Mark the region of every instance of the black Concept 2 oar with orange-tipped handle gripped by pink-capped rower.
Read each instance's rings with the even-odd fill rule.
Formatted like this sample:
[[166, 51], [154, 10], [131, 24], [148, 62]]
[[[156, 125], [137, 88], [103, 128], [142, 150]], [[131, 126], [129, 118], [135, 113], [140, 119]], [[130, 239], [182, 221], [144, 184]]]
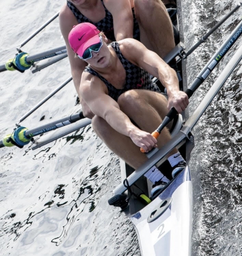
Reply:
[[[185, 91], [188, 95], [188, 98], [192, 96], [195, 90], [204, 82], [204, 80], [208, 77], [208, 75], [214, 70], [214, 68], [218, 65], [218, 63], [222, 60], [224, 55], [230, 50], [230, 48], [234, 45], [236, 40], [242, 34], [242, 21], [236, 26], [233, 32], [230, 34], [230, 37], [222, 44], [219, 50], [212, 56], [209, 62], [204, 66], [202, 71], [198, 74], [198, 76], [193, 80], [190, 87]], [[167, 116], [163, 119], [163, 122], [158, 126], [158, 128], [152, 132], [152, 136], [158, 138], [163, 128], [176, 116], [177, 111], [175, 108], [172, 108], [170, 112], [168, 112]], [[141, 152], [145, 152], [143, 148], [140, 148]]]

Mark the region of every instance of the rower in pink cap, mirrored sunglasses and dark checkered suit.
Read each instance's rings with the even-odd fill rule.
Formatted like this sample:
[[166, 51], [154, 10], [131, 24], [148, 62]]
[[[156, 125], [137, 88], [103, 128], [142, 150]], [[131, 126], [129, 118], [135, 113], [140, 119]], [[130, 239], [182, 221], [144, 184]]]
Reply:
[[[68, 39], [76, 55], [88, 63], [79, 90], [95, 114], [94, 131], [115, 154], [137, 169], [147, 160], [141, 147], [148, 152], [171, 138], [166, 128], [156, 140], [150, 134], [154, 127], [172, 107], [181, 113], [188, 105], [175, 70], [132, 38], [107, 44], [106, 36], [90, 23], [74, 26]], [[159, 78], [168, 95], [152, 82], [147, 71]], [[168, 161], [173, 176], [185, 167], [176, 148], [168, 154]], [[145, 176], [156, 188], [169, 182], [155, 166]]]

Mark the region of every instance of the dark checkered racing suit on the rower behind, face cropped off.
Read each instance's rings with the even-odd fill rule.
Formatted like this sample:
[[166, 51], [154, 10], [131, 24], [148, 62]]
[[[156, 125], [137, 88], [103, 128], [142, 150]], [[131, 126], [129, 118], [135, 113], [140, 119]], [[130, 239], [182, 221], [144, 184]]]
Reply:
[[[105, 7], [103, 0], [101, 0], [104, 9], [105, 9], [105, 17], [100, 20], [99, 22], [92, 22], [91, 20], [89, 20], [88, 18], [86, 18], [86, 16], [84, 16], [77, 8], [76, 6], [74, 6], [74, 4], [72, 4], [71, 2], [67, 1], [67, 5], [70, 8], [70, 10], [73, 12], [73, 14], [75, 15], [77, 22], [78, 23], [82, 23], [82, 22], [89, 22], [94, 24], [100, 31], [104, 32], [105, 36], [110, 39], [111, 41], [115, 41], [115, 36], [114, 36], [114, 22], [113, 22], [113, 17], [112, 14], [107, 10], [107, 8]], [[139, 29], [139, 25], [138, 22], [136, 20], [135, 14], [134, 14], [134, 8], [132, 8], [132, 12], [133, 12], [133, 18], [134, 18], [134, 32], [133, 32], [133, 36], [134, 39], [136, 40], [140, 40], [140, 29]]]

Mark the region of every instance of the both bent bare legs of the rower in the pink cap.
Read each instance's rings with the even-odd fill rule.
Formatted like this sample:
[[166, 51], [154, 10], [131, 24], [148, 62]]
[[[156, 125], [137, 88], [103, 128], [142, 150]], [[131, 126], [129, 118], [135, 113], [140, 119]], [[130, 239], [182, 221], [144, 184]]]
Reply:
[[[134, 120], [142, 130], [150, 133], [160, 125], [162, 118], [168, 112], [166, 98], [161, 94], [148, 90], [125, 92], [119, 97], [118, 104], [120, 109]], [[92, 118], [92, 127], [108, 148], [134, 169], [137, 169], [147, 160], [146, 155], [140, 152], [140, 148], [129, 137], [116, 132], [104, 119], [94, 116]], [[170, 138], [168, 130], [166, 128], [162, 130], [158, 138], [158, 147], [166, 144]], [[178, 151], [174, 149], [168, 156], [176, 152]]]

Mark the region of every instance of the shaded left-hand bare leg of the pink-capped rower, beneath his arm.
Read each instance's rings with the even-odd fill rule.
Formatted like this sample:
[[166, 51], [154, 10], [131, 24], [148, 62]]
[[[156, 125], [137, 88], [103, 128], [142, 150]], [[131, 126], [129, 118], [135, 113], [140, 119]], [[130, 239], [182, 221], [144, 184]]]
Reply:
[[92, 128], [112, 152], [134, 169], [146, 162], [147, 158], [145, 154], [140, 152], [140, 148], [129, 137], [114, 130], [103, 118], [94, 116]]

